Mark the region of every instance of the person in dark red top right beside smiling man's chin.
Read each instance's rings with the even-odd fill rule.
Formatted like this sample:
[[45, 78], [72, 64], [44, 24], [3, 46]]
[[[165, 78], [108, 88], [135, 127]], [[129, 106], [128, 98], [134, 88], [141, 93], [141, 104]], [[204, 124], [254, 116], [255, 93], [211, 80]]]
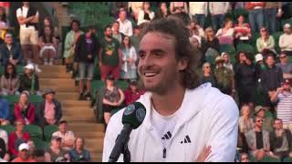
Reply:
[[130, 80], [128, 89], [124, 91], [126, 106], [138, 100], [143, 94], [144, 91], [138, 87], [137, 80]]

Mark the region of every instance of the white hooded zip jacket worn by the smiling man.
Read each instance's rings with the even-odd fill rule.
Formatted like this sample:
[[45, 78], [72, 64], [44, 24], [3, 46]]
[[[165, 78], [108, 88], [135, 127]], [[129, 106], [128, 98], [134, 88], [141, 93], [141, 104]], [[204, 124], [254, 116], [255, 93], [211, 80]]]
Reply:
[[[195, 161], [206, 146], [211, 154], [205, 161], [234, 161], [237, 146], [239, 112], [232, 97], [222, 94], [210, 83], [187, 89], [183, 104], [183, 117], [172, 131], [166, 157], [163, 158], [162, 138], [151, 125], [151, 93], [138, 100], [146, 108], [146, 117], [137, 129], [132, 130], [128, 147], [130, 161]], [[123, 127], [124, 109], [112, 118], [104, 139], [102, 161], [108, 161], [115, 140]], [[118, 161], [123, 161], [122, 155]]]

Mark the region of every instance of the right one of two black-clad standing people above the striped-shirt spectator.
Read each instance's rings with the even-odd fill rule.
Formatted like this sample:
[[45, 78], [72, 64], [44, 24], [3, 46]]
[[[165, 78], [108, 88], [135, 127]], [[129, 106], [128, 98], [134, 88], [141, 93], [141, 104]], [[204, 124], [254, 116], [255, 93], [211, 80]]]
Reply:
[[281, 87], [283, 73], [281, 68], [275, 66], [275, 57], [272, 54], [266, 56], [266, 69], [261, 72], [261, 86], [264, 91], [264, 107], [272, 106], [270, 97], [277, 87]]

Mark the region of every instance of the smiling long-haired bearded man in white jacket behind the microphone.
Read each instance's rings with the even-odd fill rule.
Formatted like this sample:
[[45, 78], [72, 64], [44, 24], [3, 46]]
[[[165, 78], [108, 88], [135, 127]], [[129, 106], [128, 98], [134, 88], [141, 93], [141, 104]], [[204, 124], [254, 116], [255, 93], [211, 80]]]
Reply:
[[[138, 101], [146, 117], [130, 134], [130, 161], [234, 161], [238, 108], [210, 83], [200, 86], [199, 56], [180, 21], [162, 18], [144, 30], [139, 74], [147, 92]], [[120, 133], [122, 114], [110, 118], [103, 161]]]

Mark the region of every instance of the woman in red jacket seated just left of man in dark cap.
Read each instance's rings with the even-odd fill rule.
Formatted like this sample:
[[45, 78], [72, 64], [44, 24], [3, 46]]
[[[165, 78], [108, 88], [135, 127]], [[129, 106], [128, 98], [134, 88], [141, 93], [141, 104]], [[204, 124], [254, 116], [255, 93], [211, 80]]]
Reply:
[[29, 102], [27, 91], [21, 93], [19, 102], [15, 106], [15, 118], [21, 120], [25, 125], [35, 124], [36, 107]]

